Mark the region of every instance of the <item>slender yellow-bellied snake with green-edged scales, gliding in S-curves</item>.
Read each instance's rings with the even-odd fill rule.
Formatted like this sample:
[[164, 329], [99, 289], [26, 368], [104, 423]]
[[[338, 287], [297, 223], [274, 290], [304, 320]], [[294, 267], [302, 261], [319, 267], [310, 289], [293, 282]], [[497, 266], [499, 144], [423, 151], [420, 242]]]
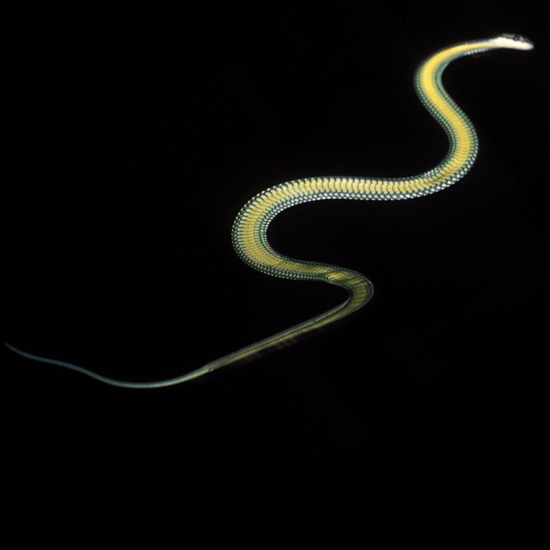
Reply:
[[416, 199], [446, 189], [462, 179], [474, 164], [478, 153], [478, 139], [474, 125], [468, 116], [444, 89], [442, 75], [451, 61], [470, 54], [501, 48], [531, 50], [534, 44], [524, 36], [507, 33], [489, 39], [464, 41], [436, 51], [416, 69], [414, 74], [416, 94], [429, 114], [444, 129], [449, 139], [446, 156], [435, 168], [417, 176], [400, 178], [324, 176], [286, 181], [256, 194], [239, 211], [231, 229], [231, 240], [236, 254], [246, 264], [275, 277], [296, 281], [321, 281], [339, 286], [348, 292], [348, 297], [338, 306], [210, 361], [198, 369], [159, 381], [117, 380], [65, 361], [30, 354], [7, 342], [4, 342], [4, 345], [26, 359], [66, 367], [111, 386], [153, 389], [182, 384], [237, 361], [254, 359], [266, 350], [294, 343], [300, 336], [321, 329], [357, 311], [373, 296], [373, 285], [366, 276], [352, 269], [292, 259], [280, 254], [267, 240], [269, 224], [282, 211], [306, 202], [326, 199], [359, 201]]

